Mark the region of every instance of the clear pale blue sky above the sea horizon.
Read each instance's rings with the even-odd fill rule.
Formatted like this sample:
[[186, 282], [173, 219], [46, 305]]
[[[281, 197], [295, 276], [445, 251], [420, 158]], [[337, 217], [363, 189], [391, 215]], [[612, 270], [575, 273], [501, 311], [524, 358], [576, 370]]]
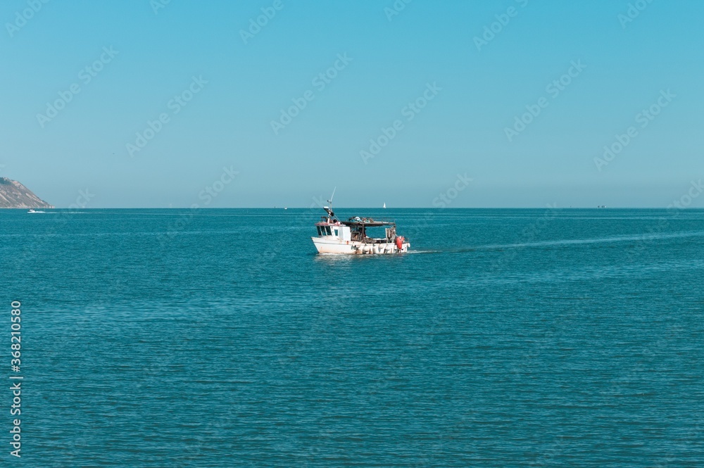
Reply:
[[[155, 13], [158, 1], [0, 4], [0, 175], [57, 206], [89, 189], [94, 208], [303, 207], [334, 186], [339, 206], [429, 207], [465, 174], [452, 208], [665, 207], [704, 177], [700, 1], [413, 0], [397, 15], [393, 0], [172, 0]], [[634, 3], [645, 8], [620, 18]], [[245, 44], [261, 8], [275, 15]], [[101, 56], [87, 82], [81, 70]], [[337, 76], [314, 81], [336, 61]], [[573, 61], [586, 68], [563, 77]], [[207, 83], [185, 106], [171, 101], [192, 77]], [[72, 84], [80, 92], [54, 118], [37, 116]], [[406, 108], [424, 92], [427, 106]], [[306, 107], [275, 133], [292, 99]], [[638, 117], [653, 105], [656, 117]], [[395, 120], [365, 163], [360, 151]], [[636, 136], [598, 170], [629, 127]], [[223, 167], [239, 174], [220, 186]]]

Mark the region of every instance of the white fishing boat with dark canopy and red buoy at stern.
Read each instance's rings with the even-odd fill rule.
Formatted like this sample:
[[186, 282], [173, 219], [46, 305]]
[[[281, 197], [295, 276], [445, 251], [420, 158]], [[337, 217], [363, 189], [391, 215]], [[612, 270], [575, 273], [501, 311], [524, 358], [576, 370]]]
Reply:
[[[351, 217], [341, 221], [332, 210], [332, 198], [327, 201], [329, 206], [323, 209], [327, 215], [315, 223], [318, 236], [311, 237], [318, 253], [384, 255], [406, 253], [410, 242], [396, 234], [396, 223], [393, 221], [377, 221], [370, 217]], [[367, 229], [384, 228], [384, 237], [370, 237]]]

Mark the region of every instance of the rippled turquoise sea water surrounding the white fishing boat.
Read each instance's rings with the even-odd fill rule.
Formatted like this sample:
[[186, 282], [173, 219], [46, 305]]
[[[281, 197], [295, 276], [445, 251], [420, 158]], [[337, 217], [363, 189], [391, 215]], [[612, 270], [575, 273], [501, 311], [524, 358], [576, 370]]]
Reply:
[[0, 212], [2, 459], [704, 466], [703, 210], [338, 212], [413, 253], [315, 255], [322, 210]]

